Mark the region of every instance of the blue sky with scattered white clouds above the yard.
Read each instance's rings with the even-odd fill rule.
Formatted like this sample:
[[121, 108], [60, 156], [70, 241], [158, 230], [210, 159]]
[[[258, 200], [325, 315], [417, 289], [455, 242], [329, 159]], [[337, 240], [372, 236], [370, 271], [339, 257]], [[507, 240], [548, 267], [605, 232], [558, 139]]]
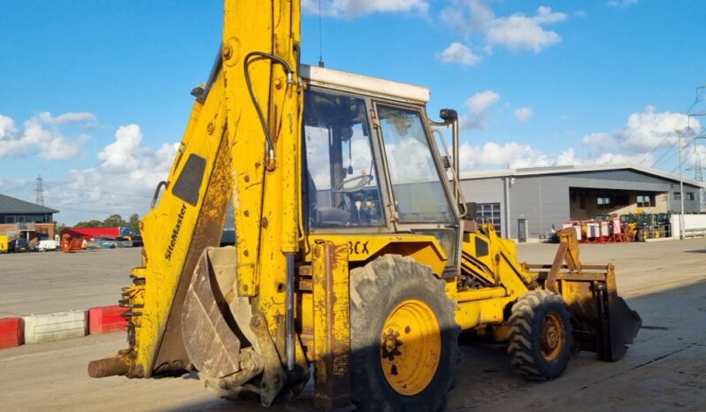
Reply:
[[[431, 89], [464, 172], [633, 163], [685, 176], [706, 111], [697, 0], [303, 0], [303, 63]], [[320, 27], [319, 30], [319, 21]], [[223, 28], [221, 1], [0, 0], [0, 193], [72, 225], [141, 216]], [[701, 121], [700, 121], [701, 120]], [[698, 143], [694, 148], [694, 142]]]

